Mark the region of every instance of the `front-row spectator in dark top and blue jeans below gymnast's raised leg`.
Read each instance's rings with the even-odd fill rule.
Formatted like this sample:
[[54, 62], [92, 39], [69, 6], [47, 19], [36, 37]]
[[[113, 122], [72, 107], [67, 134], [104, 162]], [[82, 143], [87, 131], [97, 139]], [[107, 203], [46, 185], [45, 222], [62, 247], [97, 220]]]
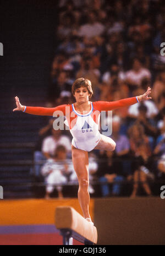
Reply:
[[[101, 182], [102, 197], [118, 196], [121, 192], [121, 182], [124, 180], [122, 162], [118, 161], [114, 151], [100, 150], [98, 155], [97, 177]], [[109, 184], [112, 184], [112, 193]]]

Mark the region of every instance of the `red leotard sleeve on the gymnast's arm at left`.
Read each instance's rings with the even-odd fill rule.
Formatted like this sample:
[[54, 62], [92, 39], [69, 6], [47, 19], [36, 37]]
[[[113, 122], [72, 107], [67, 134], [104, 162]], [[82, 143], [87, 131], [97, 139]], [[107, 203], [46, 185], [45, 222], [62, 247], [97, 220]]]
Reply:
[[26, 107], [25, 113], [38, 116], [53, 116], [54, 111], [62, 111], [65, 116], [65, 107], [70, 105], [59, 105], [57, 107]]

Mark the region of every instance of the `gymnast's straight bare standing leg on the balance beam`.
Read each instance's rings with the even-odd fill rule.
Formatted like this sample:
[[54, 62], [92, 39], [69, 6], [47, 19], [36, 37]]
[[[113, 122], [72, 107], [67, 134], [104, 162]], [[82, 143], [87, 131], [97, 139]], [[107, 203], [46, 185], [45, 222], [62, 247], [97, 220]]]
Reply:
[[83, 210], [85, 219], [90, 218], [89, 214], [89, 202], [90, 195], [88, 191], [89, 187], [89, 160], [88, 152], [76, 149], [72, 145], [72, 161], [76, 175], [79, 181], [78, 199]]

